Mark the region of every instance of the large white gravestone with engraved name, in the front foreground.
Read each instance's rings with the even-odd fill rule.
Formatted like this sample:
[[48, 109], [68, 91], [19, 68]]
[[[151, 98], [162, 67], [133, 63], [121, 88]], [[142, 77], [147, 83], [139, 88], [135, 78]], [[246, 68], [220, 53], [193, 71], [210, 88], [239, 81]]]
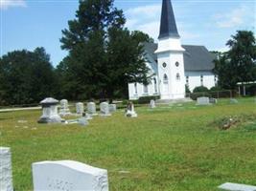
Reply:
[[73, 160], [32, 164], [34, 191], [108, 191], [107, 171]]

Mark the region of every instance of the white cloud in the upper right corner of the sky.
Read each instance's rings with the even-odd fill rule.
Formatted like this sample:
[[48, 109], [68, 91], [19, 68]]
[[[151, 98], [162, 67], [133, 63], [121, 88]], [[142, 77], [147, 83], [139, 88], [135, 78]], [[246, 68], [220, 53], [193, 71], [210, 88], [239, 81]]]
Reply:
[[214, 16], [216, 24], [219, 28], [237, 28], [241, 27], [251, 18], [253, 18], [255, 10], [246, 6], [241, 6], [238, 9], [228, 13], [219, 13]]

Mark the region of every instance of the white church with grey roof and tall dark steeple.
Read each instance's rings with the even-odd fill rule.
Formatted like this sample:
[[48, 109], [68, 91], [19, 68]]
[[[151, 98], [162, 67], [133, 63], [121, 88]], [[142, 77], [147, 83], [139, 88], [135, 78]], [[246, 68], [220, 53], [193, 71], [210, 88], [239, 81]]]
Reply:
[[151, 83], [128, 84], [130, 100], [141, 96], [160, 96], [160, 99], [185, 97], [185, 85], [208, 89], [217, 84], [213, 74], [215, 55], [204, 46], [181, 45], [171, 0], [162, 1], [158, 44], [145, 43], [146, 65], [150, 69]]

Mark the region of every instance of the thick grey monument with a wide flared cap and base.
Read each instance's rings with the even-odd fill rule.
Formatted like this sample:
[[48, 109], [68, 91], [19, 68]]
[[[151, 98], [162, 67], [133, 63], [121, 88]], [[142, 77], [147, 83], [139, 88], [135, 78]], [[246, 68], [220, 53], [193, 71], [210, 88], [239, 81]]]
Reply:
[[43, 99], [42, 105], [43, 115], [39, 118], [38, 123], [58, 123], [64, 121], [58, 116], [58, 100], [52, 97]]

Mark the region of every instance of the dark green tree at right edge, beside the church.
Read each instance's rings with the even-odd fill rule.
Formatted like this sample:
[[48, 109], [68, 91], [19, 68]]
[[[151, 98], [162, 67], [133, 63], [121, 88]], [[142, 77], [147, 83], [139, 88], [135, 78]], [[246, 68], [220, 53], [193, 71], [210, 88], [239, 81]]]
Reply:
[[256, 44], [253, 32], [238, 31], [226, 45], [230, 48], [215, 61], [214, 72], [221, 88], [234, 89], [238, 82], [256, 80]]

